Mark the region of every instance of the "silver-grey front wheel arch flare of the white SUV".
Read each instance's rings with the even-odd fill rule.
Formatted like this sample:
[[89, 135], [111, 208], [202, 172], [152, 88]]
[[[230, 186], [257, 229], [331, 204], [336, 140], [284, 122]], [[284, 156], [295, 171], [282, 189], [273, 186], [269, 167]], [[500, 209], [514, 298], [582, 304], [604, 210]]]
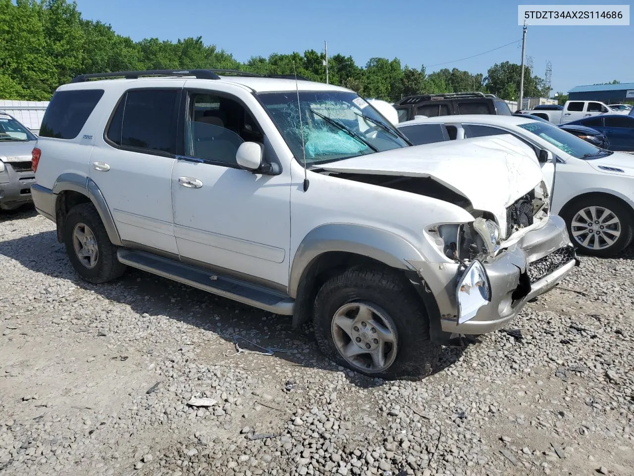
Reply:
[[368, 256], [385, 265], [414, 270], [406, 260], [424, 260], [410, 242], [381, 228], [352, 223], [328, 223], [313, 228], [297, 248], [288, 282], [288, 294], [297, 297], [297, 289], [311, 264], [323, 253], [339, 251]]

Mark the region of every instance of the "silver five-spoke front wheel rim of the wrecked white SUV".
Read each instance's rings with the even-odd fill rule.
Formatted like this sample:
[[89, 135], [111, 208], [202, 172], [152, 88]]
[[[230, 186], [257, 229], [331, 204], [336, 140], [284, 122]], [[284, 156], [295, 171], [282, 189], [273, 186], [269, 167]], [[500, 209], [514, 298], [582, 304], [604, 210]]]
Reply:
[[348, 303], [332, 318], [332, 338], [339, 354], [365, 372], [389, 368], [398, 352], [396, 325], [387, 313], [367, 303]]

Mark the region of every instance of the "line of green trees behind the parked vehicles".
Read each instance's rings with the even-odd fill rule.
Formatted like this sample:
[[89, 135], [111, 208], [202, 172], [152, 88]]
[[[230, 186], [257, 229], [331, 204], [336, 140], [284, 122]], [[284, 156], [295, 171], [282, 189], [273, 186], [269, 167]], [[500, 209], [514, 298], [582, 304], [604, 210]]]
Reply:
[[[86, 20], [67, 0], [0, 0], [0, 99], [48, 100], [60, 84], [79, 74], [147, 69], [237, 69], [257, 74], [292, 74], [325, 82], [325, 56], [273, 53], [238, 62], [231, 53], [202, 37], [172, 41], [132, 41], [110, 25]], [[357, 65], [352, 56], [328, 58], [329, 81], [365, 97], [395, 101], [422, 93], [482, 91], [517, 100], [521, 66], [503, 62], [486, 76], [441, 69], [428, 73], [401, 65], [398, 58], [371, 58]], [[524, 96], [545, 96], [550, 89], [538, 76], [524, 72]]]

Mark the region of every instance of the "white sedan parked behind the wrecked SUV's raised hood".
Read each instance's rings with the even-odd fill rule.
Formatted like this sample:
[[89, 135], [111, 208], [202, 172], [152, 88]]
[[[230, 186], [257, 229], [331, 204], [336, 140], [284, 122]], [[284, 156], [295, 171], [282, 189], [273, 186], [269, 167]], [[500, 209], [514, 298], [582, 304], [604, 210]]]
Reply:
[[[548, 122], [516, 116], [439, 116], [397, 126], [413, 145], [510, 134], [535, 152], [553, 214], [588, 255], [612, 256], [634, 236], [634, 157], [598, 149]], [[459, 171], [456, 171], [459, 173]], [[489, 184], [495, 187], [495, 183]]]

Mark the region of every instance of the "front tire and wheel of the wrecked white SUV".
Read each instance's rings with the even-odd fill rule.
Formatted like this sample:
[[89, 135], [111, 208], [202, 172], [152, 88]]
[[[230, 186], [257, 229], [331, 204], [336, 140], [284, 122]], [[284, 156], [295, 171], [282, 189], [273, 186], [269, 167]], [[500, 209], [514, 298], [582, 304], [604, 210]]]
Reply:
[[392, 270], [350, 268], [329, 279], [317, 293], [313, 323], [323, 354], [368, 376], [418, 380], [438, 359], [422, 301]]

